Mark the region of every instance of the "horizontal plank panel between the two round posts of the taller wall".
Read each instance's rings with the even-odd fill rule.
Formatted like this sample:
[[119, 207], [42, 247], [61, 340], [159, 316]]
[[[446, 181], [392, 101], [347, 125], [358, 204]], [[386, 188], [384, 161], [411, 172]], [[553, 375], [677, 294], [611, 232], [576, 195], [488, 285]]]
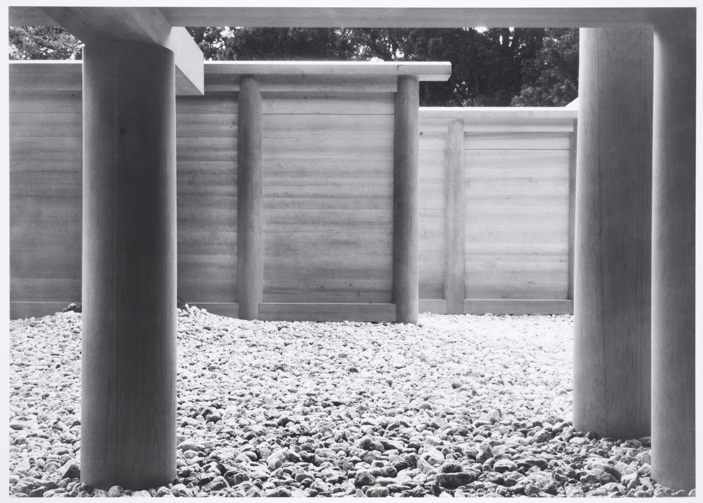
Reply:
[[393, 93], [263, 107], [264, 303], [390, 303]]

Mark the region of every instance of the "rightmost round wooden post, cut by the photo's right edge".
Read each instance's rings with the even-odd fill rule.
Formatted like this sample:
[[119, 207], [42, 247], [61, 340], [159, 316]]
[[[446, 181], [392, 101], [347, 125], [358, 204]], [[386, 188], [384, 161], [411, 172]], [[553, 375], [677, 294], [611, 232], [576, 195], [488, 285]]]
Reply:
[[695, 488], [696, 14], [654, 25], [652, 477]]

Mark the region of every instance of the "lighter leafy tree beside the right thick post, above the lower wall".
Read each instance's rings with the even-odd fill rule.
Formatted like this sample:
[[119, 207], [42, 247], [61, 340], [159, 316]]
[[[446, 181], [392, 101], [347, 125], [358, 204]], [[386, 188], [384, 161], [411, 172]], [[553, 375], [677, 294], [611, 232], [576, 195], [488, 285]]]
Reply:
[[510, 104], [562, 107], [579, 96], [579, 29], [546, 30], [534, 58], [522, 62], [520, 94]]

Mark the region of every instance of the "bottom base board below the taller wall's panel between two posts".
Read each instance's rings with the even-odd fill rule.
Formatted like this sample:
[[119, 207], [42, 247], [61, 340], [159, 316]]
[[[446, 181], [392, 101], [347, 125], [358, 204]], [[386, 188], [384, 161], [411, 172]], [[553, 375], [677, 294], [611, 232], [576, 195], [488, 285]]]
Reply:
[[259, 315], [269, 321], [354, 321], [394, 322], [396, 306], [391, 303], [262, 303]]

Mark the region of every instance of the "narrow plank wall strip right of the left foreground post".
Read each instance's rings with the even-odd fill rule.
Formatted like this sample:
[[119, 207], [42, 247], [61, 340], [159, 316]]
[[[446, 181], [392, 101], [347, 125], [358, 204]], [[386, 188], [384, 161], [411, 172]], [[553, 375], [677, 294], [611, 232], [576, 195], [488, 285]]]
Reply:
[[236, 92], [176, 98], [176, 159], [179, 294], [237, 316]]

